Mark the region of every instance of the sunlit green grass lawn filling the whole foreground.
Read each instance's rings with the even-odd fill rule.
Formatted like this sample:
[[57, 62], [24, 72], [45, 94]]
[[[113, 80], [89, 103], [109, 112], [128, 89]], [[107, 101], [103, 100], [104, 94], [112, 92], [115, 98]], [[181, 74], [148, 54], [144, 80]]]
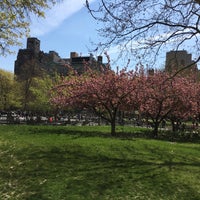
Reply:
[[199, 200], [200, 144], [1, 125], [0, 199]]

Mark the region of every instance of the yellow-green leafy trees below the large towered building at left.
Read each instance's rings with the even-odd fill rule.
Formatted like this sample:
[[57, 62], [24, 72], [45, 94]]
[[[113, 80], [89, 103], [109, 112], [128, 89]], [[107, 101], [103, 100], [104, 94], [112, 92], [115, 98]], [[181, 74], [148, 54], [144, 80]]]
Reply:
[[27, 76], [18, 79], [12, 72], [0, 69], [0, 110], [31, 111], [46, 113], [52, 110], [49, 104], [50, 88], [55, 79], [42, 76]]

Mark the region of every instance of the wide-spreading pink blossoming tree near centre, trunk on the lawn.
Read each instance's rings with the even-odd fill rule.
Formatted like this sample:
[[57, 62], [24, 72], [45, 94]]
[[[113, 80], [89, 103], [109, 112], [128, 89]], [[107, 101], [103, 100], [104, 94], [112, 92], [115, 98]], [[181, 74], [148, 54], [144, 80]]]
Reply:
[[90, 109], [108, 121], [111, 135], [116, 135], [118, 112], [134, 107], [136, 80], [135, 74], [126, 70], [74, 75], [54, 87], [51, 103], [61, 108]]

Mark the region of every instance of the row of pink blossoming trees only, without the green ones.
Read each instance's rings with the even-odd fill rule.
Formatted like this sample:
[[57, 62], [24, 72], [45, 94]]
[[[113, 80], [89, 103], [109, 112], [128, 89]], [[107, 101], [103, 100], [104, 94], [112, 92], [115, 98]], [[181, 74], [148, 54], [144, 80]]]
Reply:
[[153, 134], [159, 125], [168, 120], [173, 130], [175, 124], [188, 119], [199, 120], [200, 82], [192, 74], [183, 76], [155, 70], [146, 73], [143, 67], [136, 70], [101, 73], [92, 70], [82, 75], [76, 73], [55, 85], [51, 103], [59, 109], [88, 109], [111, 124], [111, 134], [116, 135], [116, 119], [120, 112], [138, 112], [153, 124]]

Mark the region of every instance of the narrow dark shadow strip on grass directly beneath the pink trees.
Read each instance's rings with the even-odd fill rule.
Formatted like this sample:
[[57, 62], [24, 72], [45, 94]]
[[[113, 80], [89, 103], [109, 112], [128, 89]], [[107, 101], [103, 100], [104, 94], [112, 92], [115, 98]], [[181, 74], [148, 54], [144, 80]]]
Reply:
[[[141, 129], [132, 131], [125, 131], [123, 127], [117, 128], [116, 136], [111, 136], [110, 128], [107, 127], [105, 130], [101, 130], [101, 127], [61, 127], [61, 126], [26, 126], [25, 131], [28, 134], [65, 134], [71, 135], [75, 138], [79, 137], [106, 137], [106, 138], [118, 138], [118, 139], [134, 139], [134, 138], [146, 138], [156, 139], [172, 142], [200, 142], [199, 133], [185, 133], [185, 132], [171, 132], [171, 131], [160, 131], [158, 136], [155, 138], [152, 134], [152, 130]], [[23, 134], [24, 134], [23, 132]]]

